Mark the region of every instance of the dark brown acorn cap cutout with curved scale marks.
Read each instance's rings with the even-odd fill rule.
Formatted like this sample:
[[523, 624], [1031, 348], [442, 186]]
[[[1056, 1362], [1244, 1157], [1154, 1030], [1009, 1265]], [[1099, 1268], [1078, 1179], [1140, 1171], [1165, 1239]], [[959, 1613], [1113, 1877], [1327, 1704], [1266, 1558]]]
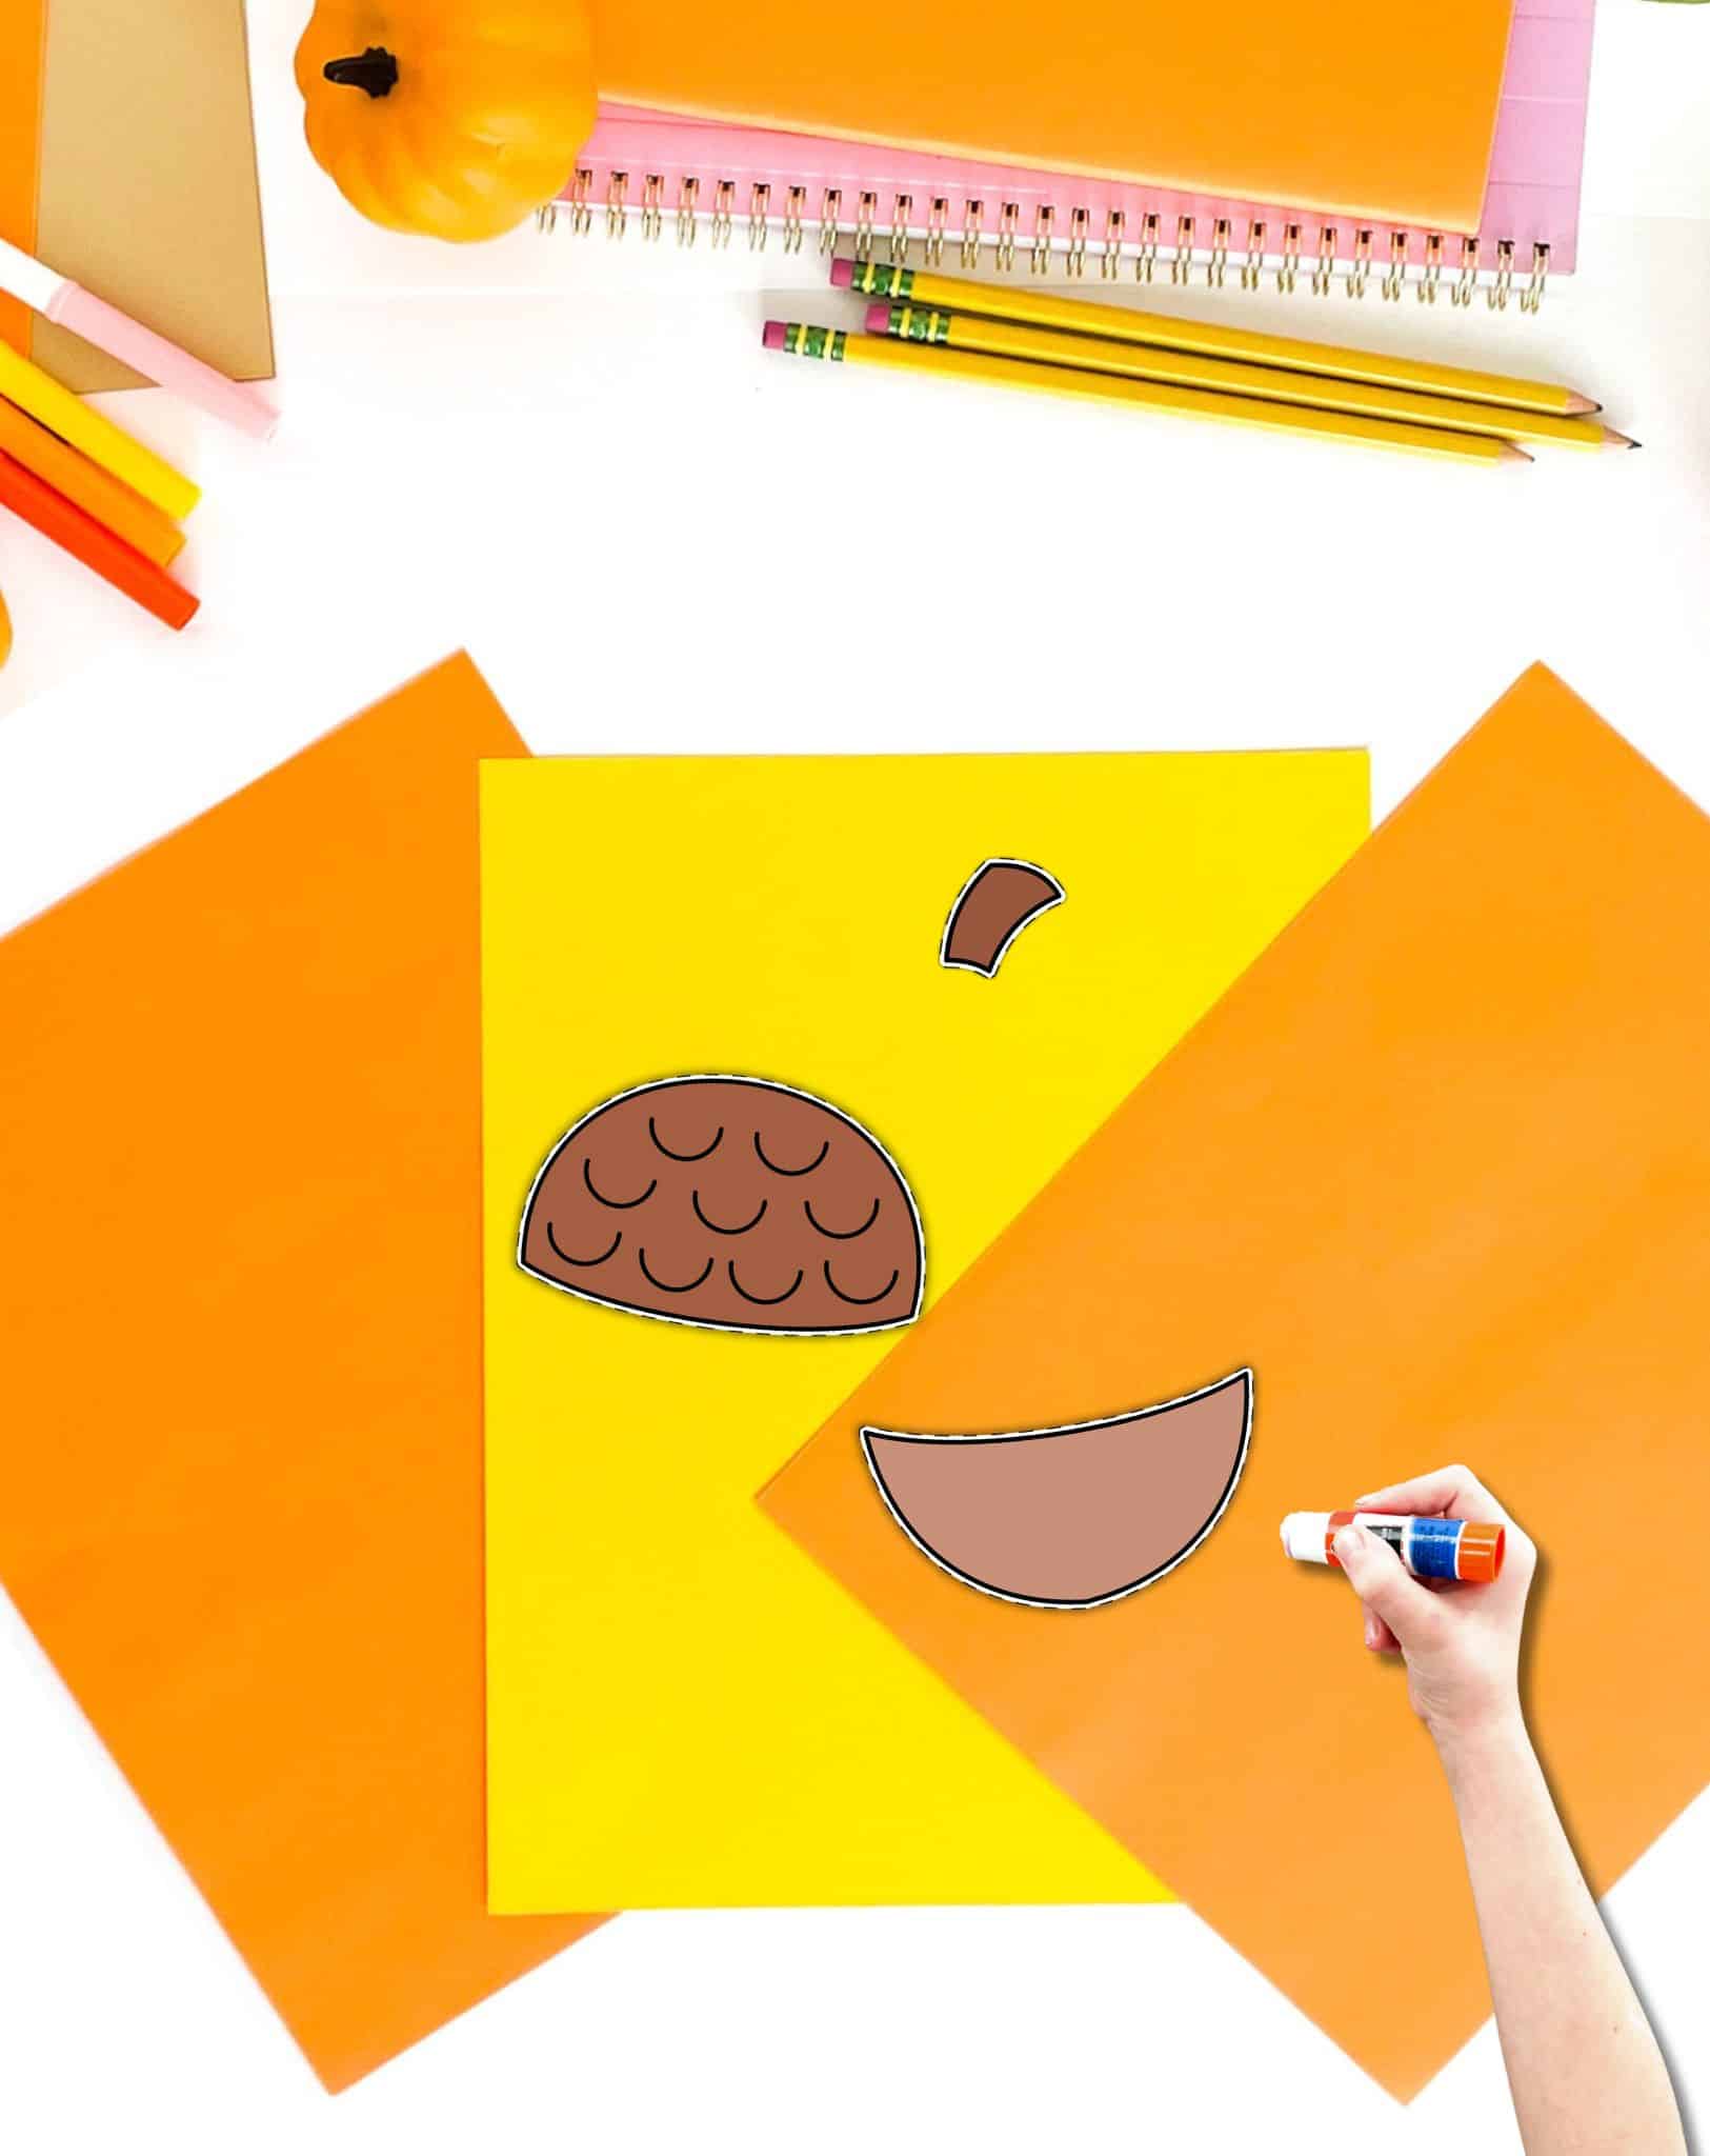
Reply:
[[602, 1102], [535, 1177], [518, 1263], [587, 1302], [735, 1332], [882, 1332], [925, 1289], [914, 1194], [878, 1138], [766, 1078]]

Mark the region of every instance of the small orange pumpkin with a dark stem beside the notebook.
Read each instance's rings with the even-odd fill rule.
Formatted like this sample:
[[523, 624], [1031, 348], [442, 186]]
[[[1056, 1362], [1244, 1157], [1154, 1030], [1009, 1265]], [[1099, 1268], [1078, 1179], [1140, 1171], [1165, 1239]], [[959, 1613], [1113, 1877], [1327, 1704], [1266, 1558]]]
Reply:
[[319, 0], [298, 45], [315, 162], [364, 218], [494, 239], [593, 129], [584, 0]]

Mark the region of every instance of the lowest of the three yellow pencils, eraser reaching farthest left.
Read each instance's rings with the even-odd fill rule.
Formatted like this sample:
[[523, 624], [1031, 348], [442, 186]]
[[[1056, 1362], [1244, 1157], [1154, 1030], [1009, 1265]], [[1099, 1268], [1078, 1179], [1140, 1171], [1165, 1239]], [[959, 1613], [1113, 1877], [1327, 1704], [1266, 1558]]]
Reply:
[[1471, 464], [1531, 464], [1512, 442], [1488, 433], [1453, 433], [1449, 427], [1408, 427], [1393, 418], [1363, 418], [1359, 412], [1322, 412], [1315, 405], [1285, 405], [1268, 397], [1227, 397], [1221, 390], [1186, 390], [1173, 382], [1128, 382], [1093, 375], [1080, 367], [1037, 367], [1031, 360], [994, 360], [983, 351], [906, 345], [895, 336], [850, 336], [806, 321], [768, 321], [770, 351], [804, 360], [847, 360], [893, 373], [938, 375], [949, 382], [990, 382], [1001, 388], [1044, 390], [1048, 397], [1082, 397], [1091, 403], [1128, 405], [1136, 412], [1173, 412], [1180, 418], [1216, 418], [1231, 427], [1266, 427], [1272, 433], [1311, 433], [1322, 442], [1363, 442], [1369, 448], [1404, 448], [1421, 457], [1462, 457]]

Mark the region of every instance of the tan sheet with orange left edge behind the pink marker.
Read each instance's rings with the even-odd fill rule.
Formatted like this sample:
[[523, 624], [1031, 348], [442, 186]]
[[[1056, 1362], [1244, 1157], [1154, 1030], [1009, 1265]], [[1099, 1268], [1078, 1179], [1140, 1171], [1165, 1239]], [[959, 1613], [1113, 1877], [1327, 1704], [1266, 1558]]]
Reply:
[[[4, 13], [0, 233], [222, 373], [267, 379], [242, 0], [6, 0]], [[0, 334], [75, 390], [140, 379], [22, 310]]]

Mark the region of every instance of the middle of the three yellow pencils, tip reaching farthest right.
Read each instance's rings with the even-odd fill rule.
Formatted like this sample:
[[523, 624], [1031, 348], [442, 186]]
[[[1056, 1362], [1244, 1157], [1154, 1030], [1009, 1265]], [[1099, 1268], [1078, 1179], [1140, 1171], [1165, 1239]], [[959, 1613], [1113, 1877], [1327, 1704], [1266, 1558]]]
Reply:
[[916, 345], [949, 345], [951, 351], [985, 351], [992, 358], [1035, 360], [1044, 367], [1085, 367], [1095, 375], [1173, 382], [1177, 388], [1223, 390], [1231, 397], [1270, 397], [1277, 403], [1313, 405], [1322, 412], [1399, 418], [1412, 427], [1494, 433], [1505, 442], [1559, 442], [1563, 448], [1639, 446], [1594, 418], [1501, 410], [1499, 405], [1471, 403], [1464, 397], [1425, 397], [1423, 390], [1387, 390], [1376, 382], [1300, 375], [1287, 367], [1242, 367], [1236, 360], [1208, 360], [1201, 351], [1123, 345], [1111, 336], [1070, 336], [1067, 330], [1035, 330], [1024, 321], [985, 321], [960, 310], [916, 306], [912, 300], [875, 300], [867, 308], [867, 328], [875, 336], [901, 336]]

